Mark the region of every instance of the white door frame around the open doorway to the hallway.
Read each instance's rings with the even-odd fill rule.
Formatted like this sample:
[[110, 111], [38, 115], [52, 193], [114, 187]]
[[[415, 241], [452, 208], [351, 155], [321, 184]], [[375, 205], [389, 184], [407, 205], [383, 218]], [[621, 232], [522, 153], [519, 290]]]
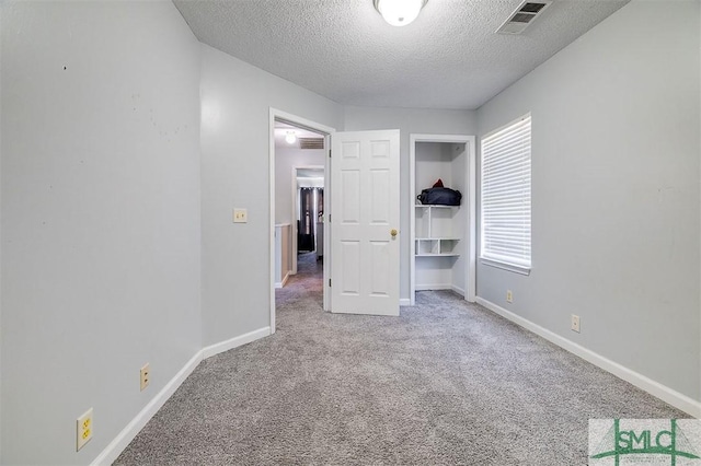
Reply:
[[[269, 107], [269, 116], [268, 116], [268, 196], [269, 196], [269, 209], [268, 209], [268, 287], [269, 287], [269, 295], [268, 300], [271, 302], [271, 334], [275, 333], [275, 120], [289, 123], [291, 125], [298, 126], [300, 128], [310, 129], [312, 131], [319, 132], [324, 136], [324, 148], [326, 150], [331, 150], [331, 135], [336, 132], [335, 128], [332, 128], [326, 125], [322, 125], [310, 119], [300, 117], [298, 115], [294, 115], [278, 108]], [[330, 185], [330, 166], [331, 160], [330, 158], [325, 158], [325, 168], [324, 168], [324, 184]], [[325, 190], [325, 189], [324, 189]], [[325, 193], [324, 193], [325, 196]], [[324, 198], [324, 202], [326, 199]], [[331, 202], [331, 199], [329, 199]], [[324, 233], [329, 232], [329, 215], [324, 212]], [[329, 240], [331, 234], [324, 234], [324, 255], [329, 254], [329, 257], [324, 257], [324, 299], [323, 299], [323, 308], [327, 311], [331, 306], [331, 301], [329, 296], [329, 273], [330, 273], [330, 265], [331, 265], [331, 254], [329, 251]], [[329, 251], [329, 253], [326, 253]]]

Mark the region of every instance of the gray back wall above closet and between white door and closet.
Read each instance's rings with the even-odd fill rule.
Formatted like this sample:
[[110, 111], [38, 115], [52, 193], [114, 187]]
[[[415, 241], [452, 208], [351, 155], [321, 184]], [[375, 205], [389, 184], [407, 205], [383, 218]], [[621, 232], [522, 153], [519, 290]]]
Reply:
[[471, 110], [435, 110], [422, 108], [377, 108], [377, 107], [345, 107], [346, 131], [361, 131], [371, 129], [399, 129], [400, 132], [400, 195], [401, 195], [401, 225], [400, 225], [400, 296], [409, 300], [409, 268], [412, 254], [409, 242], [410, 209], [414, 202], [409, 193], [409, 136], [411, 133], [426, 135], [476, 135], [476, 113]]

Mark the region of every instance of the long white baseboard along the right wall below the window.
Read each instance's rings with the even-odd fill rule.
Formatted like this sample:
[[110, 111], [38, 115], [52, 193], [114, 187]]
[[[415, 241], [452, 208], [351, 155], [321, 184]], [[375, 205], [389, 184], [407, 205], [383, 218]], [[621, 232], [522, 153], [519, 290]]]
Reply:
[[677, 391], [674, 391], [668, 386], [660, 384], [659, 382], [655, 382], [652, 378], [646, 377], [645, 375], [639, 374], [637, 372], [628, 369], [624, 365], [619, 364], [618, 362], [613, 362], [610, 359], [605, 358], [601, 354], [598, 354], [581, 345], [577, 345], [574, 341], [561, 337], [560, 335], [548, 330], [540, 325], [533, 324], [532, 322], [519, 315], [516, 315], [513, 312], [492, 303], [491, 301], [486, 301], [478, 296], [476, 303], [501, 315], [502, 317], [520, 325], [527, 330], [530, 330], [533, 334], [543, 337], [548, 341], [558, 345], [560, 348], [565, 349], [575, 356], [578, 356], [585, 361], [590, 362], [591, 364], [601, 368], [607, 372], [610, 372], [619, 378], [622, 378], [625, 382], [635, 385], [636, 387], [662, 399], [663, 401], [668, 403], [675, 408], [681, 409], [682, 411], [693, 416], [694, 418], [701, 418], [701, 401], [696, 400]]

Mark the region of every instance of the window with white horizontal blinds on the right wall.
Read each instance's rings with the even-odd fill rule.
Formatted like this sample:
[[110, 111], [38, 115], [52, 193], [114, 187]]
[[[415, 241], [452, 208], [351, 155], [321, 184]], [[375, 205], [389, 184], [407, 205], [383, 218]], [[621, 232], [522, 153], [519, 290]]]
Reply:
[[482, 139], [480, 259], [530, 271], [530, 114]]

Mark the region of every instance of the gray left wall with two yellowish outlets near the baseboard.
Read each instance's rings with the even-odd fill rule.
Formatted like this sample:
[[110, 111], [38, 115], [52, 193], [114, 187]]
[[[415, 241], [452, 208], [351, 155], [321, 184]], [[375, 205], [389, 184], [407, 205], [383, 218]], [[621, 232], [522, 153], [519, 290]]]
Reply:
[[90, 463], [202, 348], [198, 100], [170, 2], [2, 4], [2, 464]]

